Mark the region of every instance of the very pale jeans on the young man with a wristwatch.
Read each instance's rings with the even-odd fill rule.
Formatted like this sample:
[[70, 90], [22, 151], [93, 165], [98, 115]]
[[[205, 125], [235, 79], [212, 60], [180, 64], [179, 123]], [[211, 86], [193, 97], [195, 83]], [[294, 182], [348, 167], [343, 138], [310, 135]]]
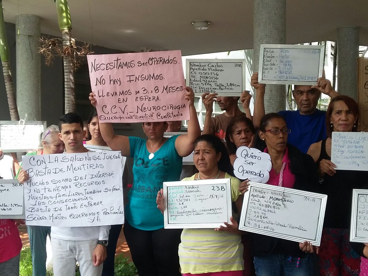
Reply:
[[81, 276], [101, 276], [103, 264], [93, 266], [93, 251], [97, 240], [66, 241], [51, 238], [54, 276], [74, 276], [79, 263]]

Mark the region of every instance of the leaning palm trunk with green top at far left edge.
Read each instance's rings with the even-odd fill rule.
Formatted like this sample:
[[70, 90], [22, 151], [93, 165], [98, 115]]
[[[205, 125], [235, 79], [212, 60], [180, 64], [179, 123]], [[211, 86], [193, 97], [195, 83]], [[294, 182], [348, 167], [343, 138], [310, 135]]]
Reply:
[[8, 98], [10, 118], [12, 121], [19, 121], [19, 113], [17, 108], [17, 100], [15, 99], [13, 79], [11, 78], [11, 69], [9, 61], [8, 40], [6, 39], [3, 4], [0, 0], [0, 57], [3, 64], [3, 73], [5, 81], [6, 95]]

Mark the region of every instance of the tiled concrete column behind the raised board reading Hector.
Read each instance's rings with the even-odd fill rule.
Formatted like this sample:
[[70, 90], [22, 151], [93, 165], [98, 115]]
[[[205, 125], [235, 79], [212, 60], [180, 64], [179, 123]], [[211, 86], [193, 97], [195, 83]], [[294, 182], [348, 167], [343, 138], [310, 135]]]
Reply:
[[[285, 44], [286, 0], [254, 0], [253, 15], [254, 72], [259, 67], [261, 44]], [[266, 85], [265, 112], [277, 112], [286, 108], [285, 85]]]

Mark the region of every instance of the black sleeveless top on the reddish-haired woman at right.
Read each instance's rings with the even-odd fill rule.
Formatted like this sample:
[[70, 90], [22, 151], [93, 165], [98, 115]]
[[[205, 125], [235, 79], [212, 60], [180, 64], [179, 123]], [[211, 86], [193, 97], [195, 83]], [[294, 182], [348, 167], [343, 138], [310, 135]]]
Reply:
[[[322, 159], [331, 160], [326, 140], [322, 140], [318, 167]], [[336, 170], [333, 176], [325, 174], [319, 182], [319, 192], [328, 195], [323, 227], [350, 229], [353, 189], [362, 189], [368, 183], [368, 171]]]

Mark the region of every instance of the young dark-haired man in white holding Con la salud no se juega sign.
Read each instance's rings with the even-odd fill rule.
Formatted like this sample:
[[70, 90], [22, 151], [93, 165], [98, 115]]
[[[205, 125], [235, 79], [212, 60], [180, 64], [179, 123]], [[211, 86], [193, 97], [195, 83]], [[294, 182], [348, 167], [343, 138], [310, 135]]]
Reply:
[[[66, 153], [88, 152], [83, 146], [82, 118], [67, 113], [59, 120], [59, 138], [64, 141]], [[22, 175], [21, 175], [22, 174]], [[24, 170], [18, 178], [21, 183], [28, 179]], [[75, 262], [79, 263], [81, 276], [101, 276], [110, 225], [88, 227], [51, 227], [51, 248], [54, 276], [72, 276]]]

